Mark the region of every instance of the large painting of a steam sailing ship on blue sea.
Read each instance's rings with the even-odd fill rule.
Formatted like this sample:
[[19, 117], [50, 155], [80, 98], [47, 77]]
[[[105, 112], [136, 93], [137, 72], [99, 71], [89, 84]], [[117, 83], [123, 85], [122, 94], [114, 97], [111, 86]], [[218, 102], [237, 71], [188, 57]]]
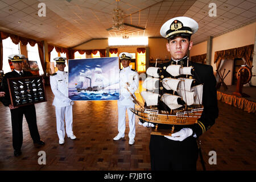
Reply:
[[68, 60], [68, 97], [73, 101], [118, 100], [118, 57]]

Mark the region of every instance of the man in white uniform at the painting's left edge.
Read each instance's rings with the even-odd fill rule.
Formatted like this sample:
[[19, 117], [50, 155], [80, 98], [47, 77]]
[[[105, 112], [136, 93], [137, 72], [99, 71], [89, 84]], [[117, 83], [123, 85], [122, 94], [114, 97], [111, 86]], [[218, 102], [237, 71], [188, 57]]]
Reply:
[[65, 129], [64, 119], [66, 124], [66, 133], [69, 138], [76, 139], [73, 134], [73, 111], [72, 105], [74, 102], [68, 98], [68, 73], [64, 72], [66, 57], [56, 57], [56, 67], [58, 71], [50, 77], [51, 89], [54, 94], [52, 105], [55, 106], [57, 134], [59, 144], [64, 144]]

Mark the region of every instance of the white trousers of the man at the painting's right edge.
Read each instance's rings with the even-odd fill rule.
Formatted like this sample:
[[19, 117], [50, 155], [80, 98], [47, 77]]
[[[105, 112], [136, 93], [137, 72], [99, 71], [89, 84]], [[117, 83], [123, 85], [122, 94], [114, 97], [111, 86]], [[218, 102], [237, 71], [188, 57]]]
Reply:
[[134, 108], [133, 105], [121, 105], [118, 103], [118, 135], [124, 135], [125, 134], [125, 115], [126, 110], [129, 118], [129, 138], [134, 139], [135, 138], [135, 115], [132, 111], [130, 111], [129, 108]]

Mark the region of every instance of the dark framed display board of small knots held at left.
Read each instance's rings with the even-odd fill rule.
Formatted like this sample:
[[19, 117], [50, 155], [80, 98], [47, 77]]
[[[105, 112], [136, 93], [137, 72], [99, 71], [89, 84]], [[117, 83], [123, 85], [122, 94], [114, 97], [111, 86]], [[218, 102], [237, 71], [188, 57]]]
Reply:
[[46, 102], [46, 89], [42, 76], [7, 78], [11, 105], [24, 106]]

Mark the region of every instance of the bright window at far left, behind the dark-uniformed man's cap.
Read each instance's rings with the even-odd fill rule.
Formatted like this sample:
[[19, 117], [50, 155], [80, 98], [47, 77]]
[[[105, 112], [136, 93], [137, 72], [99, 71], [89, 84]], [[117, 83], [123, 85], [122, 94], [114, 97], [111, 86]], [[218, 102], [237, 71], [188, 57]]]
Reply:
[[3, 43], [3, 72], [7, 73], [11, 71], [8, 56], [14, 53], [20, 53], [19, 44], [16, 45], [11, 41], [11, 38], [2, 40]]

